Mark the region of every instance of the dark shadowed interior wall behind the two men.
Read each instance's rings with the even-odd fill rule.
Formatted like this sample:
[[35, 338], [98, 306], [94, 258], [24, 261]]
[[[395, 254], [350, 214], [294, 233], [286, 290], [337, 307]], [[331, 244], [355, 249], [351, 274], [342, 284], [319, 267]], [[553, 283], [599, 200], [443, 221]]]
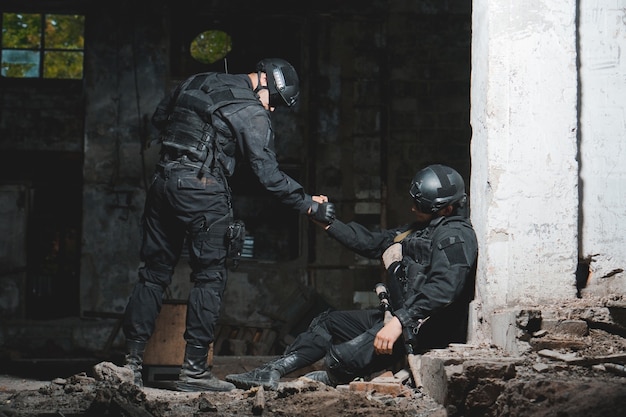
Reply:
[[[147, 146], [156, 138], [149, 117], [176, 81], [225, 69], [223, 61], [206, 65], [189, 57], [189, 42], [203, 30], [231, 33], [229, 72], [249, 72], [267, 56], [294, 64], [301, 101], [294, 111], [272, 116], [277, 154], [308, 192], [337, 203], [341, 219], [372, 228], [410, 221], [408, 185], [428, 163], [452, 165], [469, 180], [470, 0], [278, 1], [262, 8], [248, 0], [119, 0], [82, 11], [83, 2], [31, 3], [40, 12], [54, 6], [87, 18], [82, 84], [42, 90], [0, 80], [3, 157], [20, 151], [29, 161], [64, 163], [71, 155], [68, 167], [80, 166], [67, 183], [77, 201], [62, 199], [80, 229], [74, 268], [80, 285], [55, 284], [70, 288], [58, 292], [73, 294], [76, 314], [124, 309], [139, 264], [146, 185], [158, 157], [158, 147]], [[16, 109], [30, 116], [15, 117]], [[1, 170], [0, 179], [9, 171]], [[59, 196], [61, 188], [55, 188]], [[232, 188], [237, 214], [255, 235], [257, 258], [244, 260], [233, 274], [224, 317], [271, 310], [300, 284], [330, 305], [350, 308], [355, 291], [371, 291], [380, 279], [377, 261], [355, 256], [285, 212], [244, 166]], [[63, 224], [62, 217], [49, 221]], [[185, 268], [183, 261], [173, 298], [185, 296]], [[245, 305], [236, 296], [242, 292]]]

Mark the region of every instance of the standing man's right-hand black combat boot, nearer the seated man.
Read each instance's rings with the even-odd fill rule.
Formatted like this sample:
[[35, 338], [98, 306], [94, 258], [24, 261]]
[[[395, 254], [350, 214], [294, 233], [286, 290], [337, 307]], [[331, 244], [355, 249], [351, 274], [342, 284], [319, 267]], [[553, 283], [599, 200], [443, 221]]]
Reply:
[[185, 361], [180, 370], [175, 386], [179, 391], [230, 391], [233, 384], [217, 379], [207, 364], [209, 348], [204, 346], [185, 346]]

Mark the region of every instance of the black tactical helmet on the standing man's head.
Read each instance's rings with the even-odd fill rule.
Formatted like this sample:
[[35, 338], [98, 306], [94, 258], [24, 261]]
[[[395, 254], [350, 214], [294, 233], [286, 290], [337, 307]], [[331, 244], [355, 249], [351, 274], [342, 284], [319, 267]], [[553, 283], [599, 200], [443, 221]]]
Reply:
[[300, 86], [298, 74], [289, 62], [280, 58], [265, 58], [256, 64], [256, 70], [267, 74], [271, 107], [296, 104]]

